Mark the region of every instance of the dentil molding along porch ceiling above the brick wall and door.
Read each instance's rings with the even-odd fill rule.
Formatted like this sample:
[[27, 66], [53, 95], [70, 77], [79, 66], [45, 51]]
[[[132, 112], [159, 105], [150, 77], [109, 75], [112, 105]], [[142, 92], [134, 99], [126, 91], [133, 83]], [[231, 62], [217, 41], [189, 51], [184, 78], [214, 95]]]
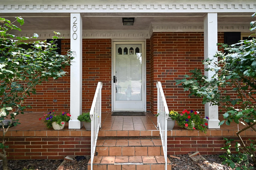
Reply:
[[[243, 32], [250, 33], [249, 25], [218, 25], [218, 32]], [[59, 30], [61, 35], [59, 37], [70, 38], [69, 30]], [[102, 31], [102, 30], [83, 30], [82, 38], [111, 38], [111, 39], [148, 39], [154, 32], [204, 32], [203, 24], [150, 24], [147, 31]], [[37, 33], [40, 39], [52, 38], [54, 33], [52, 30], [29, 30], [29, 31], [15, 31], [16, 37], [33, 37], [33, 33]]]

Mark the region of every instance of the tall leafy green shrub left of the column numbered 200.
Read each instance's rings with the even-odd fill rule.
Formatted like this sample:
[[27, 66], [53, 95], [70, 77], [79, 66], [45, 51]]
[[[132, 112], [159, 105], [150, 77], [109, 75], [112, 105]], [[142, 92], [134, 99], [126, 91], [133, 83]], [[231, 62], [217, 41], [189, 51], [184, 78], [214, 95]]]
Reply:
[[[21, 25], [24, 19], [16, 17], [14, 22]], [[70, 66], [71, 52], [66, 55], [59, 55], [56, 52], [56, 40], [60, 33], [55, 33], [53, 40], [49, 43], [37, 40], [39, 37], [34, 33], [33, 37], [15, 37], [11, 34], [12, 30], [21, 29], [5, 18], [0, 18], [0, 122], [6, 118], [10, 118], [10, 124], [4, 128], [1, 124], [3, 133], [2, 144], [0, 148], [0, 158], [3, 160], [3, 170], [7, 170], [6, 150], [6, 133], [10, 125], [14, 122], [14, 126], [19, 123], [15, 119], [17, 115], [24, 114], [26, 107], [23, 103], [30, 95], [36, 93], [35, 86], [42, 81], [48, 81], [50, 78], [58, 79], [66, 75], [63, 69]], [[31, 40], [32, 46], [29, 49], [20, 47], [24, 40]]]

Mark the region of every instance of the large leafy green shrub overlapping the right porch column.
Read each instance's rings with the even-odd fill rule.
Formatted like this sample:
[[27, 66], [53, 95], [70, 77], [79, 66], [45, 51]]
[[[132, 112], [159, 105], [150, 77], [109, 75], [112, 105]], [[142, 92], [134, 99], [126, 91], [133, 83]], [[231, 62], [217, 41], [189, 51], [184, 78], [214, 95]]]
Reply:
[[[256, 30], [256, 21], [251, 22], [250, 25], [251, 31]], [[226, 51], [217, 51], [214, 57], [219, 58], [218, 62], [213, 62], [210, 58], [203, 61], [203, 64], [213, 66], [204, 69], [204, 71], [213, 71], [214, 75], [211, 79], [204, 76], [201, 70], [195, 69], [190, 71], [191, 75], [176, 80], [176, 84], [182, 83], [184, 91], [190, 92], [189, 96], [202, 97], [202, 104], [209, 102], [222, 108], [225, 112], [223, 114], [225, 120], [219, 125], [224, 122], [230, 125], [232, 121], [244, 125], [236, 132], [240, 140], [239, 145], [252, 157], [256, 167], [256, 140], [245, 143], [240, 136], [245, 130], [256, 132], [256, 39], [240, 40], [231, 46], [218, 45], [222, 45]]]

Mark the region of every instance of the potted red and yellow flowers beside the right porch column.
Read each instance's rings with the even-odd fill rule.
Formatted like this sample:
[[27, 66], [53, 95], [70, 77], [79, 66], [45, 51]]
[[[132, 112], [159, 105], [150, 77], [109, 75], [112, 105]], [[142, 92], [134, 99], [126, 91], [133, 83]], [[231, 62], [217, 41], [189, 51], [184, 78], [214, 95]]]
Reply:
[[202, 119], [202, 116], [199, 114], [199, 112], [195, 110], [183, 110], [181, 114], [178, 114], [176, 117], [172, 116], [174, 120], [176, 120], [178, 126], [181, 128], [186, 128], [189, 130], [199, 130], [200, 132], [206, 133], [206, 126], [208, 125], [206, 123], [206, 119], [209, 119], [206, 117], [206, 119]]

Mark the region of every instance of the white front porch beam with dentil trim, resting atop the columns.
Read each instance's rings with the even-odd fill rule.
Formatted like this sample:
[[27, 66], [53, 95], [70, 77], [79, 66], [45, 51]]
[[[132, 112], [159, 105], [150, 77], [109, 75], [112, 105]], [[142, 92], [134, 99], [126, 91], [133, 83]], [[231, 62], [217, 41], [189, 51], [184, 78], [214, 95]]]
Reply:
[[1, 13], [240, 13], [255, 12], [255, 0], [1, 0]]

